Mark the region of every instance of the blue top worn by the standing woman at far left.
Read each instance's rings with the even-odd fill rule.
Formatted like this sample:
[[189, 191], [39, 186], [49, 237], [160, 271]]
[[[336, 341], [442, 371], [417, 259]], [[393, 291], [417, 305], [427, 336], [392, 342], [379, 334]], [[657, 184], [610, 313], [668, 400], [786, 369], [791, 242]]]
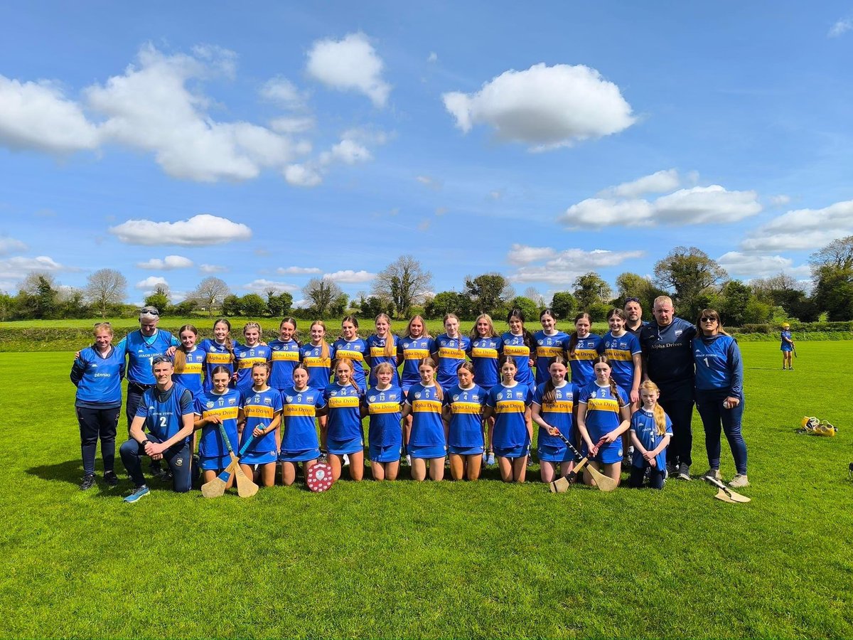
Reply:
[[71, 381], [77, 387], [75, 405], [90, 409], [121, 406], [121, 379], [125, 377], [125, 352], [109, 348], [101, 355], [87, 346], [71, 367]]

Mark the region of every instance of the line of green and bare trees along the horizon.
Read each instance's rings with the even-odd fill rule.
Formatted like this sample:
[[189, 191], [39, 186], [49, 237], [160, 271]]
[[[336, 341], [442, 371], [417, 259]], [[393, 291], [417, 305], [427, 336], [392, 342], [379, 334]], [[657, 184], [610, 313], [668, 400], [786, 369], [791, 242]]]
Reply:
[[[679, 315], [690, 318], [701, 309], [713, 308], [730, 326], [765, 323], [780, 315], [800, 322], [815, 322], [822, 313], [830, 321], [853, 319], [853, 236], [830, 242], [813, 253], [809, 263], [810, 295], [801, 282], [783, 273], [741, 282], [729, 278], [700, 249], [676, 247], [654, 265], [652, 276], [624, 272], [617, 276], [614, 289], [598, 273], [589, 271], [552, 294], [548, 306], [560, 318], [587, 311], [600, 321], [609, 308], [624, 305], [628, 298], [639, 299], [650, 311], [653, 300], [666, 294], [675, 300]], [[184, 317], [206, 312], [211, 317], [326, 318], [346, 313], [375, 317], [387, 313], [407, 318], [418, 312], [428, 318], [456, 313], [465, 320], [480, 313], [501, 318], [519, 308], [532, 320], [548, 303], [536, 288], [516, 294], [508, 278], [497, 272], [465, 276], [459, 290], [435, 293], [432, 274], [411, 255], [387, 265], [377, 274], [369, 294], [359, 292], [352, 300], [337, 282], [321, 277], [311, 278], [302, 288], [304, 308], [294, 309], [293, 294], [277, 288], [268, 288], [264, 294], [237, 296], [226, 282], [209, 276], [182, 302], [171, 304], [168, 289], [161, 286], [146, 296], [144, 304]], [[51, 274], [33, 271], [24, 277], [16, 295], [0, 293], [0, 321], [130, 315], [136, 307], [126, 305], [126, 299], [127, 281], [114, 269], [95, 271], [85, 288], [62, 287]]]

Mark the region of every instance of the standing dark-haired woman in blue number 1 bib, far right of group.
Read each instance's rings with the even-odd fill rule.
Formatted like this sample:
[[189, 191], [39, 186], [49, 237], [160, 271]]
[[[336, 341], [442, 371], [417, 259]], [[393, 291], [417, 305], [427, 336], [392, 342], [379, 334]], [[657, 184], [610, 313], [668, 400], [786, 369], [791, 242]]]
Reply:
[[746, 478], [746, 442], [741, 433], [744, 412], [743, 361], [734, 338], [722, 329], [720, 315], [704, 309], [696, 322], [699, 334], [693, 338], [696, 363], [696, 409], [705, 428], [708, 473], [720, 480], [720, 425], [728, 439], [737, 472], [728, 486], [749, 486]]

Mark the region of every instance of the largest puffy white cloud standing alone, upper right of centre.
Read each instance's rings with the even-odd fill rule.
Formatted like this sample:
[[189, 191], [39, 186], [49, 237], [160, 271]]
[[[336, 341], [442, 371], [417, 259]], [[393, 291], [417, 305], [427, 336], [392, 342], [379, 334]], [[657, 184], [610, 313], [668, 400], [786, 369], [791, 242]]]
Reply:
[[462, 131], [490, 125], [497, 137], [537, 151], [607, 136], [635, 122], [618, 86], [583, 65], [540, 63], [525, 71], [510, 70], [476, 93], [445, 93], [442, 98]]

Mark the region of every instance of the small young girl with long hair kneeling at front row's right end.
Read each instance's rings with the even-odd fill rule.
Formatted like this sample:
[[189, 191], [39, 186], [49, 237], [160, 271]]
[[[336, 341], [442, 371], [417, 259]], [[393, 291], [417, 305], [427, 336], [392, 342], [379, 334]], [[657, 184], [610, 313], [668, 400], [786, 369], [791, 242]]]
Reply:
[[672, 422], [658, 404], [660, 389], [653, 381], [640, 385], [642, 406], [631, 416], [631, 442], [634, 455], [628, 486], [639, 489], [648, 474], [653, 489], [663, 489], [666, 480], [666, 447], [672, 437]]

